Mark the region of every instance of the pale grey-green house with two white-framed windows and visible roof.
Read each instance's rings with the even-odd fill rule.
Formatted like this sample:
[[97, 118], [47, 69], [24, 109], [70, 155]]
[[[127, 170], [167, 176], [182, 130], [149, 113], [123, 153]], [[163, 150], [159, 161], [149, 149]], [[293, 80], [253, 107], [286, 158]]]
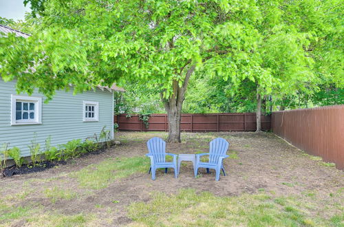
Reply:
[[[28, 35], [3, 25], [0, 32]], [[71, 87], [69, 91], [56, 91], [48, 103], [37, 92], [32, 96], [17, 94], [15, 85], [15, 80], [5, 83], [0, 76], [0, 148], [9, 143], [9, 148], [19, 147], [25, 157], [30, 156], [28, 145], [34, 137], [41, 147], [49, 136], [52, 146], [56, 146], [69, 140], [85, 140], [103, 127], [114, 137], [114, 91], [124, 91], [116, 85], [97, 86], [76, 95]]]

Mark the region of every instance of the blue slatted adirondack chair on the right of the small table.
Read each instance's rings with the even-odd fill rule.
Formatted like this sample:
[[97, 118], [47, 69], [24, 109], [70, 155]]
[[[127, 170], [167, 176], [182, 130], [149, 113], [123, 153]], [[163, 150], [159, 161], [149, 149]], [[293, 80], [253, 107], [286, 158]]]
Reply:
[[[221, 170], [224, 172], [224, 166], [222, 160], [228, 158], [229, 155], [226, 155], [229, 143], [223, 138], [215, 138], [210, 143], [209, 153], [198, 153], [196, 154], [196, 164], [195, 164], [195, 177], [197, 176], [198, 168], [206, 168], [206, 172], [209, 173], [209, 169], [215, 169], [216, 178], [219, 180], [219, 174]], [[201, 162], [200, 158], [204, 155], [209, 155], [208, 162]], [[224, 172], [224, 175], [226, 173]]]

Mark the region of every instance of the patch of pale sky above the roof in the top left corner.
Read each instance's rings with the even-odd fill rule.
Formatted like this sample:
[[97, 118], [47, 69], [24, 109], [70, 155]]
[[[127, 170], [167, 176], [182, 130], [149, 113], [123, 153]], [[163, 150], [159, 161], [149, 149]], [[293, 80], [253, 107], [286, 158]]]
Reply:
[[0, 0], [0, 17], [14, 20], [24, 20], [25, 12], [30, 12], [30, 6], [24, 7], [24, 0]]

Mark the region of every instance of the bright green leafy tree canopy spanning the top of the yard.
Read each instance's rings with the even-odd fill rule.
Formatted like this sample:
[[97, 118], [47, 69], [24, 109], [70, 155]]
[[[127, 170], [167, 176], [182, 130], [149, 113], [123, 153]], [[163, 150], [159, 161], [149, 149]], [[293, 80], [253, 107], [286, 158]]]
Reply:
[[29, 94], [138, 80], [168, 98], [191, 67], [227, 81], [226, 97], [251, 83], [280, 99], [344, 86], [339, 0], [25, 3], [39, 17], [30, 38], [0, 39], [0, 73]]

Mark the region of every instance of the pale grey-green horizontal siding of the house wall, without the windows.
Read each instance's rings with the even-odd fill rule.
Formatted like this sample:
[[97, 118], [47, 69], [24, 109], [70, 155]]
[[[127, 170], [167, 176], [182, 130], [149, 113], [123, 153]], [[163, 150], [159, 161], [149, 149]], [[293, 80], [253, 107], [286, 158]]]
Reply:
[[[69, 140], [82, 139], [97, 135], [106, 126], [114, 135], [113, 125], [113, 94], [96, 89], [85, 91], [83, 94], [73, 95], [69, 91], [57, 91], [50, 102], [45, 103], [42, 94], [32, 96], [42, 97], [42, 124], [41, 125], [12, 125], [11, 126], [11, 94], [17, 94], [15, 81], [3, 82], [0, 78], [0, 148], [5, 142], [9, 147], [19, 147], [23, 156], [30, 155], [28, 145], [36, 133], [36, 142], [45, 147], [45, 139], [52, 138], [52, 146], [65, 144]], [[25, 94], [21, 94], [27, 96]], [[99, 121], [83, 122], [83, 101], [99, 102]]]

